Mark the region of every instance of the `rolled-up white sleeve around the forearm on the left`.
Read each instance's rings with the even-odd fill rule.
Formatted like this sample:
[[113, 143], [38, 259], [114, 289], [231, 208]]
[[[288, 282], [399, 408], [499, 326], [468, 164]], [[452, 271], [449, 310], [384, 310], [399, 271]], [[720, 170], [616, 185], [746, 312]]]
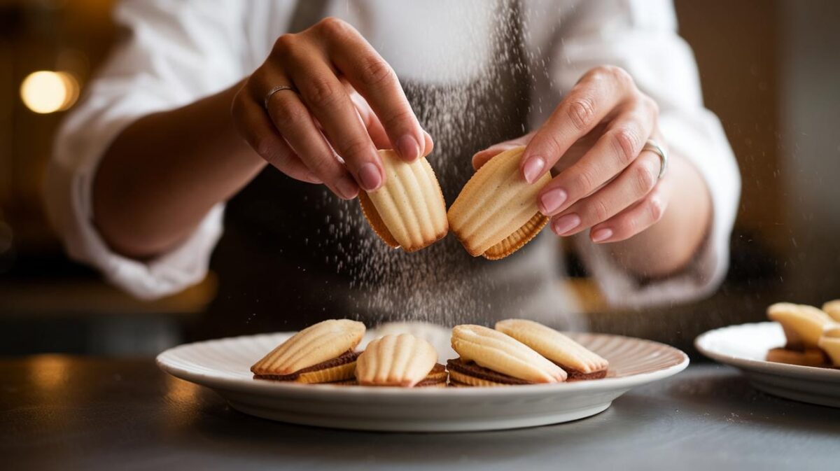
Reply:
[[56, 136], [45, 190], [51, 222], [73, 259], [139, 298], [165, 296], [202, 280], [222, 233], [223, 204], [169, 253], [129, 259], [109, 249], [93, 224], [97, 165], [136, 119], [221, 91], [244, 76], [241, 8], [237, 0], [119, 3], [118, 44]]

